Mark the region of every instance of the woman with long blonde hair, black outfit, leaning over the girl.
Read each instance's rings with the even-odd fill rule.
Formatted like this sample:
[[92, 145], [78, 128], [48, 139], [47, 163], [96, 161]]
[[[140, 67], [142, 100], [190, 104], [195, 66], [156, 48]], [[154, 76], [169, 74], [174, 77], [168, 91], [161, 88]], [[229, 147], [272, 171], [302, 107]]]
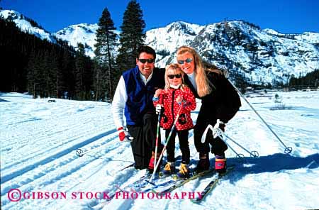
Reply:
[[193, 48], [180, 47], [177, 50], [177, 63], [185, 72], [184, 82], [191, 88], [196, 98], [201, 99], [201, 109], [194, 127], [194, 142], [199, 153], [196, 171], [208, 170], [210, 166], [208, 153], [211, 150], [216, 157], [216, 171], [225, 172], [227, 145], [219, 137], [213, 138], [211, 131], [207, 133], [204, 143], [201, 143], [201, 137], [209, 124], [224, 131], [225, 123], [235, 116], [241, 106], [240, 98], [223, 73], [211, 69], [213, 65], [205, 67], [201, 57]]

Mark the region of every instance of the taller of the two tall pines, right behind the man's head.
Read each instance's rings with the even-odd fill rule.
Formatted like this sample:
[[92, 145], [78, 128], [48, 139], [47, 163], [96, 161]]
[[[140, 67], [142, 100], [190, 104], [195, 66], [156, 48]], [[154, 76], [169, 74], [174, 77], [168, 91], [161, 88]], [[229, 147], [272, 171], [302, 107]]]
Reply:
[[142, 19], [140, 4], [132, 0], [124, 12], [121, 26], [121, 48], [116, 59], [120, 72], [135, 67], [138, 48], [143, 45], [146, 37], [144, 28], [145, 21]]

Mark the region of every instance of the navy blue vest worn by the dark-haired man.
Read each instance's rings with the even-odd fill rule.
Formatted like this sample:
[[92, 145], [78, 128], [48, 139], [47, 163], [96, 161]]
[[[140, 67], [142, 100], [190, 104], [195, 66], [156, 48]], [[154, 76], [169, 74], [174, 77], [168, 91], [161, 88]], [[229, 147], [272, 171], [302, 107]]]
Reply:
[[122, 76], [128, 94], [124, 111], [126, 124], [142, 125], [144, 114], [155, 114], [152, 98], [157, 89], [164, 88], [164, 69], [154, 68], [152, 79], [146, 85], [140, 78], [138, 66], [123, 72]]

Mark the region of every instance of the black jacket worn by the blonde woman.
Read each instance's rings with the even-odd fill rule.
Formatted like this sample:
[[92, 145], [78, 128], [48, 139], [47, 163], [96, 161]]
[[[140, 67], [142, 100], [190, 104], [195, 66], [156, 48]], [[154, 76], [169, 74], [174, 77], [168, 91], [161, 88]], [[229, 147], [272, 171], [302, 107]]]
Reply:
[[239, 110], [241, 103], [236, 90], [223, 74], [207, 72], [211, 83], [212, 92], [206, 96], [199, 97], [187, 75], [184, 82], [191, 88], [196, 98], [201, 99], [201, 109], [198, 113], [196, 123], [210, 123], [214, 125], [217, 119], [227, 123]]

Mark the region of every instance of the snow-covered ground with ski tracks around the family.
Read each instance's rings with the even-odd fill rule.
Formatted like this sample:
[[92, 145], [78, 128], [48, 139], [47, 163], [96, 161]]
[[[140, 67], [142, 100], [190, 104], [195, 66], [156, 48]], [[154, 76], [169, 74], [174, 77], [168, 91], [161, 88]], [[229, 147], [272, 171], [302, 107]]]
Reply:
[[[260, 156], [249, 157], [228, 141], [247, 157], [240, 161], [227, 151], [235, 170], [201, 204], [181, 199], [181, 193], [201, 192], [209, 177], [172, 192], [179, 199], [113, 199], [104, 209], [319, 209], [319, 91], [268, 92], [247, 99], [293, 148], [291, 155], [284, 154], [284, 146], [242, 100], [226, 133]], [[145, 170], [133, 167], [121, 170], [132, 163], [133, 155], [130, 144], [118, 140], [111, 104], [47, 101], [0, 93], [1, 209], [89, 209], [98, 202], [89, 199], [92, 194], [113, 192], [143, 175]], [[198, 101], [194, 121], [199, 106]], [[194, 168], [198, 154], [192, 131], [189, 142]], [[77, 148], [94, 150], [78, 157]], [[13, 201], [20, 194], [24, 198]]]

